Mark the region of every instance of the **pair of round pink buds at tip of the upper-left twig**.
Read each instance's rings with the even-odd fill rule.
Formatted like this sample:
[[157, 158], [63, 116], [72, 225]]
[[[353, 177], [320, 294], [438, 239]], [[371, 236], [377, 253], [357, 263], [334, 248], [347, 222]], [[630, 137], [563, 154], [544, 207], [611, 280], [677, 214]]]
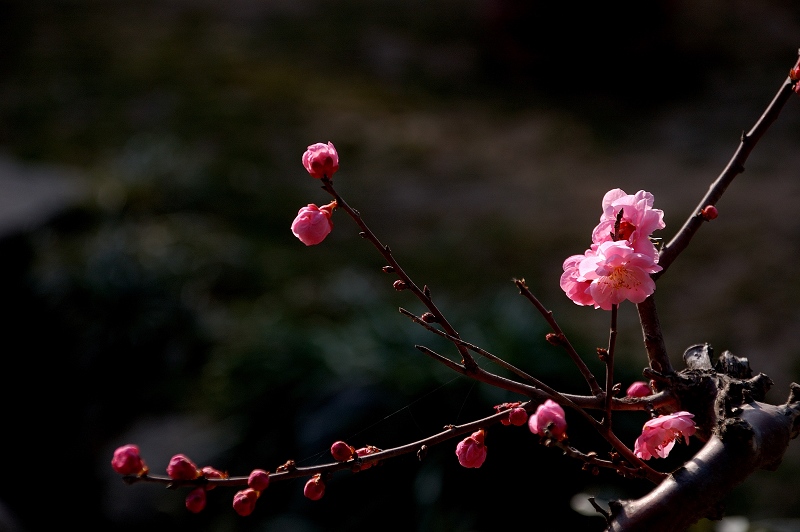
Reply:
[[[303, 166], [315, 179], [331, 179], [339, 169], [339, 154], [331, 142], [312, 144], [303, 154]], [[302, 207], [292, 222], [292, 233], [306, 246], [315, 246], [333, 230], [331, 216], [336, 201], [322, 207], [313, 203]]]

